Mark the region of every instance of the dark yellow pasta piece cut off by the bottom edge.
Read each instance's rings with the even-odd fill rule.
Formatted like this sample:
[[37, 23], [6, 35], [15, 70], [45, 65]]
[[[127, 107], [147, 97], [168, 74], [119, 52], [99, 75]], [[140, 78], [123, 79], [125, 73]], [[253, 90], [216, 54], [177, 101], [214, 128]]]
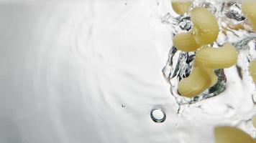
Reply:
[[236, 127], [216, 127], [214, 133], [216, 143], [255, 143], [249, 134]]

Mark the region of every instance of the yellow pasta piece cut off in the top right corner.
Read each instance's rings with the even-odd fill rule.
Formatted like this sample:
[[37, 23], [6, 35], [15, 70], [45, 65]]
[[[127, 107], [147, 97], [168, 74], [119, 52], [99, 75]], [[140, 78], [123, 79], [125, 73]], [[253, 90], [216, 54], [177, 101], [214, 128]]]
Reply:
[[252, 24], [252, 29], [256, 31], [256, 1], [244, 0], [242, 2], [242, 11]]

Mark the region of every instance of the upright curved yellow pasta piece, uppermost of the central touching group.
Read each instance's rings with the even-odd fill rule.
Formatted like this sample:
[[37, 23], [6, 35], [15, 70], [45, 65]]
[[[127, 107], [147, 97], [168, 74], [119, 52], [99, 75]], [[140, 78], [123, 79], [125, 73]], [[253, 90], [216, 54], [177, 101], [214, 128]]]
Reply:
[[214, 14], [204, 7], [196, 7], [191, 11], [191, 21], [198, 44], [206, 45], [216, 41], [219, 35], [219, 24]]

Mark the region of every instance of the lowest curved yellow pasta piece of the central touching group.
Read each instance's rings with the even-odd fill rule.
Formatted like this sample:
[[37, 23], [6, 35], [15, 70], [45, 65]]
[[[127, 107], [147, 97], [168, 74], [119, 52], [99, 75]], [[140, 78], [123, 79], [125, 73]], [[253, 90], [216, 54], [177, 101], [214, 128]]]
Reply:
[[196, 97], [211, 85], [211, 79], [205, 69], [195, 67], [189, 77], [178, 83], [178, 92], [183, 97]]

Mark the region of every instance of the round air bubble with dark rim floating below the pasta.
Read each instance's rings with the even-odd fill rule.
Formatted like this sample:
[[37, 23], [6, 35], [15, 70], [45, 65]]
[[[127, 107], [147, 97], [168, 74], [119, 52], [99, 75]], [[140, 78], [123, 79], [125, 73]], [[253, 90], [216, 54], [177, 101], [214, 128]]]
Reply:
[[150, 112], [150, 117], [154, 122], [165, 122], [166, 119], [166, 114], [165, 111], [163, 109], [160, 108], [154, 108], [152, 109], [152, 111]]

